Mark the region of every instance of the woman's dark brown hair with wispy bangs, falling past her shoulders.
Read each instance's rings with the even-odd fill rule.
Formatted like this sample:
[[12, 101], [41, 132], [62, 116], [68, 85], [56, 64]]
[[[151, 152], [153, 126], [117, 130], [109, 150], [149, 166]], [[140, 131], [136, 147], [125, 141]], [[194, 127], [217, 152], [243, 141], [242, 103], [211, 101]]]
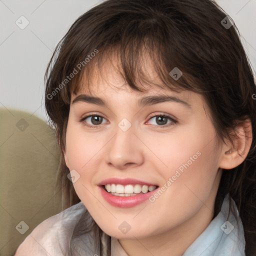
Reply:
[[[143, 91], [139, 84], [152, 84], [140, 68], [141, 52], [146, 49], [164, 86], [203, 95], [219, 139], [231, 141], [235, 126], [250, 118], [250, 150], [240, 165], [223, 171], [214, 216], [229, 193], [243, 223], [246, 255], [256, 254], [255, 83], [237, 27], [221, 24], [226, 15], [211, 0], [106, 0], [71, 25], [45, 72], [45, 107], [62, 152], [57, 185], [62, 189], [63, 209], [80, 201], [66, 177], [69, 170], [63, 157], [71, 93], [79, 90], [83, 75], [89, 79], [95, 64], [100, 70], [103, 55], [112, 52], [118, 54], [119, 72], [127, 84]], [[174, 67], [183, 73], [177, 80], [169, 75]], [[76, 74], [69, 79], [71, 73]], [[82, 220], [90, 217], [88, 212], [85, 215], [70, 236], [71, 255], [72, 239], [88, 231], [81, 228]], [[103, 244], [103, 239], [98, 238], [104, 233], [96, 223], [90, 229], [96, 234], [100, 254], [109, 255], [109, 239]]]

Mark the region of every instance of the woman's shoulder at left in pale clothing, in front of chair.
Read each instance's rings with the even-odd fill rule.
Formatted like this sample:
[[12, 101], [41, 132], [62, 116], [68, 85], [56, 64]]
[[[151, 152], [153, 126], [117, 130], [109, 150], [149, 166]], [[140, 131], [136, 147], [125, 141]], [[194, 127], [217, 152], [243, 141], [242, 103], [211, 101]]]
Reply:
[[64, 255], [70, 232], [85, 210], [79, 202], [45, 219], [24, 239], [14, 256]]

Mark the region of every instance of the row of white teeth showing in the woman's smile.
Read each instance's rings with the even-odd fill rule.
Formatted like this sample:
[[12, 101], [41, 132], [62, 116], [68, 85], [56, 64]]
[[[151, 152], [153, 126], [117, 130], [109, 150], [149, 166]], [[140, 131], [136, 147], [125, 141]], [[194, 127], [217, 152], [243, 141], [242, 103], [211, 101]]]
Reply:
[[139, 193], [147, 193], [148, 191], [152, 191], [156, 188], [154, 185], [121, 185], [121, 184], [106, 184], [105, 188], [107, 192], [110, 192], [113, 195], [119, 195], [119, 196], [129, 196], [129, 195], [135, 195]]

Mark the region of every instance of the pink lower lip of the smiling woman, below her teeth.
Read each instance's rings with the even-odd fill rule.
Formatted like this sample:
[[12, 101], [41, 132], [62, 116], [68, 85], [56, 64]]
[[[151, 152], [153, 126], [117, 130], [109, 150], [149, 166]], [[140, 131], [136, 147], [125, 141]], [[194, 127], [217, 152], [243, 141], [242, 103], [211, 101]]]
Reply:
[[110, 194], [102, 186], [99, 186], [99, 189], [104, 199], [111, 205], [121, 208], [128, 208], [142, 203], [143, 201], [148, 199], [151, 195], [155, 193], [157, 188], [147, 193], [130, 196], [118, 196]]

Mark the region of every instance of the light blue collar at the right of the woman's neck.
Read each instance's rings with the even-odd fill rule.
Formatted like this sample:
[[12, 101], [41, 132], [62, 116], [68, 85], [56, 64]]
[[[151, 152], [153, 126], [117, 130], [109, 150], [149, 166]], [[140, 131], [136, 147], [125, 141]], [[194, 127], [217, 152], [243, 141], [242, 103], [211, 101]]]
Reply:
[[[229, 200], [231, 210], [228, 216]], [[227, 194], [221, 210], [182, 256], [245, 256], [243, 226], [234, 200]]]

